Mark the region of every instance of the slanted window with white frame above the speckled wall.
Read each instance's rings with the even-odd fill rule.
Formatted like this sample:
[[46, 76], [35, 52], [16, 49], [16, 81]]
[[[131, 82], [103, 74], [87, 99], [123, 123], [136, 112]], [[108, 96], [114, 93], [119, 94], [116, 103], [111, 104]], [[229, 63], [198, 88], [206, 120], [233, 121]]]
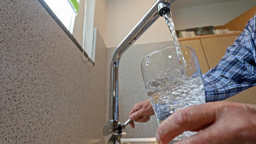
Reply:
[[[94, 28], [95, 0], [38, 0], [74, 41], [95, 61], [97, 29]], [[70, 35], [71, 34], [71, 35]]]

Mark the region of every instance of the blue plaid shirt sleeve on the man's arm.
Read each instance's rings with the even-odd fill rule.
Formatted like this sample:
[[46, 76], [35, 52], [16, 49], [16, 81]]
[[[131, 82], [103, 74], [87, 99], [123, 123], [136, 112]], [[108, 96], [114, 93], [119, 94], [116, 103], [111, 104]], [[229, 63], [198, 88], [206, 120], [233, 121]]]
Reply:
[[256, 85], [256, 15], [218, 65], [203, 74], [203, 82], [207, 102], [224, 100]]

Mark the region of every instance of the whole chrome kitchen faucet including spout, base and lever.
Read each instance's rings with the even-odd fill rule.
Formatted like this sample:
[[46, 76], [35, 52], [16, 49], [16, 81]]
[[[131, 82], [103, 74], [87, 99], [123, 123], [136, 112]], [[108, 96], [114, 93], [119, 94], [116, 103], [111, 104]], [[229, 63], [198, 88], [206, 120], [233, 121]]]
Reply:
[[103, 127], [103, 135], [108, 144], [121, 143], [122, 126], [118, 113], [118, 67], [122, 54], [164, 13], [171, 11], [175, 0], [157, 0], [147, 11], [132, 31], [124, 38], [114, 51], [110, 67], [109, 121]]

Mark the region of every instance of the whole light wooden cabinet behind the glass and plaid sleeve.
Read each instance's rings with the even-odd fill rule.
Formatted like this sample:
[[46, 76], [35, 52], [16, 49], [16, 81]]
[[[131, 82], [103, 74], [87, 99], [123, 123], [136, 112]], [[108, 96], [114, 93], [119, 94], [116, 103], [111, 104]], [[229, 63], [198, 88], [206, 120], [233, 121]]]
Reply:
[[[179, 38], [182, 45], [190, 46], [197, 54], [202, 73], [213, 69], [224, 56], [228, 46], [240, 33], [226, 33], [220, 35], [194, 36], [191, 38]], [[256, 87], [228, 98], [225, 101], [256, 104]]]

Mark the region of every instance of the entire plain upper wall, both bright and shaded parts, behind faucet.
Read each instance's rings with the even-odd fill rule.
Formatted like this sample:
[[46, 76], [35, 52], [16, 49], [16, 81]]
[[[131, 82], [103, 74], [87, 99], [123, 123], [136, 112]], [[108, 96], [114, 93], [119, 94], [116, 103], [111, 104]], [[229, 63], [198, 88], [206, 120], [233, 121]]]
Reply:
[[[178, 0], [177, 0], [178, 1]], [[106, 4], [106, 46], [117, 46], [155, 0], [108, 0]], [[176, 29], [223, 25], [256, 5], [255, 0], [227, 1], [216, 4], [173, 9]], [[157, 20], [135, 43], [157, 43], [171, 40], [164, 20]]]

